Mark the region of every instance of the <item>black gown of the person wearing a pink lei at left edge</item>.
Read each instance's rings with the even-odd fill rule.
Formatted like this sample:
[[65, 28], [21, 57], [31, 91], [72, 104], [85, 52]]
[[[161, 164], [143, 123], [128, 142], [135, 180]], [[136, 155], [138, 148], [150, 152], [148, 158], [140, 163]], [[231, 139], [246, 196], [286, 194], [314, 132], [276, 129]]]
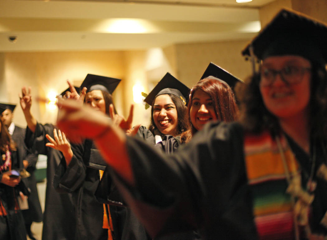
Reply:
[[[2, 155], [5, 153], [1, 152], [0, 154]], [[23, 162], [20, 162], [19, 159], [18, 152], [11, 152], [11, 169], [23, 167]], [[3, 160], [1, 157], [0, 165], [2, 164]], [[0, 174], [0, 179], [1, 178], [2, 174]], [[10, 187], [0, 183], [0, 198], [7, 212], [7, 216], [0, 216], [0, 239], [26, 240], [26, 230], [22, 212], [20, 210], [15, 211], [15, 203], [20, 191], [27, 196], [29, 195], [22, 181], [16, 187]]]

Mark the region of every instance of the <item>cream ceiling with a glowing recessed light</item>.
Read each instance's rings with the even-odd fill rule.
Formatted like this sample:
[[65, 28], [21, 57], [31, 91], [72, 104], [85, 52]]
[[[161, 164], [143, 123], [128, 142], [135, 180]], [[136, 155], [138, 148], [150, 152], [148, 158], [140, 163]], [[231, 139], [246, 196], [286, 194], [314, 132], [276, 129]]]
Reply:
[[[0, 52], [127, 50], [249, 39], [272, 0], [0, 0]], [[9, 37], [16, 40], [9, 41]]]

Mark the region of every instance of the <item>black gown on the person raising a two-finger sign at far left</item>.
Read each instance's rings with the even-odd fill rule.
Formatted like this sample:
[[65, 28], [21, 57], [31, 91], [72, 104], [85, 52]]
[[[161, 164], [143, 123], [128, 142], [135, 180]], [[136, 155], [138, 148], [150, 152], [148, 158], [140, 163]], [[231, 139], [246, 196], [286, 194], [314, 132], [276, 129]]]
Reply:
[[45, 134], [53, 138], [53, 129], [52, 124], [37, 123], [34, 134], [26, 128], [25, 137], [26, 146], [34, 154], [43, 154], [48, 158], [42, 239], [74, 239], [76, 220], [72, 195], [60, 194], [52, 185], [55, 170], [62, 158], [60, 151], [45, 146], [48, 142]]

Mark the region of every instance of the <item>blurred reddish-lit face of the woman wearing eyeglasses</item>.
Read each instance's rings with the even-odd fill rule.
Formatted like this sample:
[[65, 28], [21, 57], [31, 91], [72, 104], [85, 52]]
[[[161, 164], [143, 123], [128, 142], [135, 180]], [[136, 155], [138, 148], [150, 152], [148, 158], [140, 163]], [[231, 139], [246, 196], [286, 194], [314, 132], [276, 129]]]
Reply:
[[[293, 117], [300, 113], [306, 113], [308, 110], [311, 81], [310, 68], [310, 62], [300, 56], [268, 57], [263, 61], [261, 81], [259, 83], [260, 92], [265, 106], [277, 118]], [[301, 73], [296, 69], [301, 69]], [[270, 70], [284, 71], [283, 75], [286, 75], [286, 77], [277, 74], [274, 81], [267, 85], [263, 78]], [[291, 78], [292, 76], [293, 78]], [[287, 81], [285, 78], [288, 78], [291, 83], [285, 82]]]

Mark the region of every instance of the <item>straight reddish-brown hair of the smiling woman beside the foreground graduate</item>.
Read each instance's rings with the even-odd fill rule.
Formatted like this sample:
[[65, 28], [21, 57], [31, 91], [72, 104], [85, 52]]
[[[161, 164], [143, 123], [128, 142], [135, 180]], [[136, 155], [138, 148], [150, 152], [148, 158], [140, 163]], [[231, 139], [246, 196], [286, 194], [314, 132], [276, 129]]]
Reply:
[[181, 135], [181, 142], [188, 142], [198, 131], [191, 122], [190, 111], [193, 95], [199, 89], [211, 97], [218, 120], [231, 122], [238, 119], [239, 111], [232, 88], [226, 82], [213, 76], [204, 78], [195, 84], [191, 90], [190, 100], [187, 106], [188, 119], [191, 128]]

